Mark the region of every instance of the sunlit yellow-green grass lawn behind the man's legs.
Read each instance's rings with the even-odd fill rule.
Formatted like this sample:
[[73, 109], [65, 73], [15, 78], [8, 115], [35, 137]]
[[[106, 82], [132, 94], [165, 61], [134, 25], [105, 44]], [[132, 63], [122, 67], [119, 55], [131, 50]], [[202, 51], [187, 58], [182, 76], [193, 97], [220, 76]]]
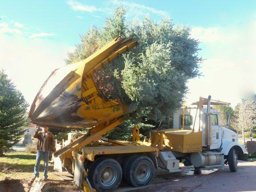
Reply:
[[[34, 176], [34, 166], [36, 162], [36, 154], [28, 154], [25, 152], [6, 153], [0, 157], [0, 180], [6, 177], [12, 179], [30, 180]], [[60, 180], [53, 175], [53, 165], [49, 164], [48, 177], [52, 180]], [[43, 160], [41, 160], [39, 177], [43, 176]]]

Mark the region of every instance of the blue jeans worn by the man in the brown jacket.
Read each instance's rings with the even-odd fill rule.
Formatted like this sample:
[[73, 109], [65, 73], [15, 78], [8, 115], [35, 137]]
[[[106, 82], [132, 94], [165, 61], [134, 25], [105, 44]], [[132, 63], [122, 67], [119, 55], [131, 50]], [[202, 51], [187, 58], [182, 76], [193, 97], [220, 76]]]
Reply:
[[40, 161], [42, 158], [44, 160], [44, 178], [47, 179], [49, 151], [37, 151], [37, 159], [36, 159], [36, 165], [34, 168], [34, 174], [35, 174], [35, 177], [39, 177], [38, 170], [39, 170]]

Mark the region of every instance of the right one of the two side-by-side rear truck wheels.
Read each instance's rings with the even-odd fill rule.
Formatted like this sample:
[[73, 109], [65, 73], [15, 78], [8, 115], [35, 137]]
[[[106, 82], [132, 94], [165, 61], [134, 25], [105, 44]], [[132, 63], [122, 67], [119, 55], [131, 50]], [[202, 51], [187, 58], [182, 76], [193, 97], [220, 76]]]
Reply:
[[146, 185], [154, 176], [154, 165], [147, 156], [134, 156], [126, 168], [126, 181], [134, 187]]

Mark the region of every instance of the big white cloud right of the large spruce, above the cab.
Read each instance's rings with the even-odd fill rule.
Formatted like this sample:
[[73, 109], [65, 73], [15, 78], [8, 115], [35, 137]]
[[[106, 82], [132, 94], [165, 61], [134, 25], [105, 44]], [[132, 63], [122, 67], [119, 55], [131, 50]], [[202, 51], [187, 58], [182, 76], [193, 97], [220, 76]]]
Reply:
[[245, 26], [194, 27], [192, 36], [202, 42], [206, 59], [204, 76], [189, 81], [188, 102], [211, 95], [232, 103], [256, 94], [256, 21]]

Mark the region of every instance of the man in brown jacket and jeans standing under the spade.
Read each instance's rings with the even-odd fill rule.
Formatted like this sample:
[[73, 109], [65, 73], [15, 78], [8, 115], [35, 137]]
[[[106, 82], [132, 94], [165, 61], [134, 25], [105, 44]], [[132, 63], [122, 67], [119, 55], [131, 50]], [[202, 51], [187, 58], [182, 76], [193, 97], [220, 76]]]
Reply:
[[51, 132], [48, 132], [48, 127], [43, 127], [43, 131], [40, 131], [39, 127], [37, 127], [33, 137], [38, 139], [37, 159], [36, 159], [36, 165], [34, 169], [35, 178], [39, 177], [39, 172], [38, 172], [39, 165], [40, 165], [41, 159], [43, 158], [44, 160], [44, 179], [43, 180], [46, 180], [48, 178], [47, 172], [48, 172], [49, 152], [55, 151], [55, 142], [54, 142], [53, 134]]

